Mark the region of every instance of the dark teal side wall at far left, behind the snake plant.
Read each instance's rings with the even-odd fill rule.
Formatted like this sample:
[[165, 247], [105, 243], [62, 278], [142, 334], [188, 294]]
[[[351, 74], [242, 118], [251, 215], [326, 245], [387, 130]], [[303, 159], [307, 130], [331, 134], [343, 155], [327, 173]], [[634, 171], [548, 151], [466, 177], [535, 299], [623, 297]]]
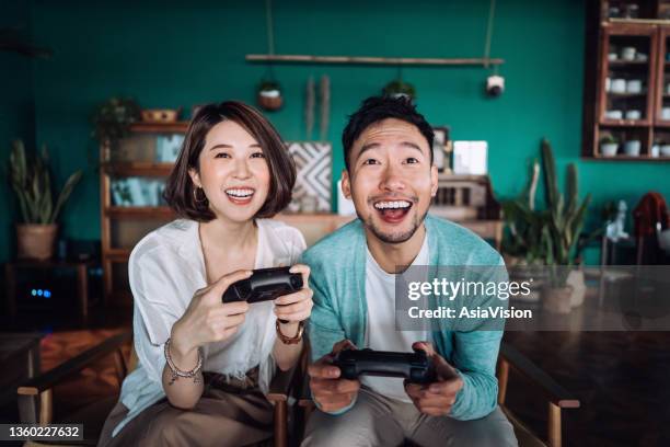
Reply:
[[[19, 1], [0, 9], [0, 28], [21, 27], [31, 33], [27, 3]], [[35, 123], [31, 59], [14, 53], [0, 51], [0, 262], [14, 253], [14, 207], [7, 180], [11, 141], [21, 138], [34, 145]], [[10, 199], [12, 197], [12, 199]]]

